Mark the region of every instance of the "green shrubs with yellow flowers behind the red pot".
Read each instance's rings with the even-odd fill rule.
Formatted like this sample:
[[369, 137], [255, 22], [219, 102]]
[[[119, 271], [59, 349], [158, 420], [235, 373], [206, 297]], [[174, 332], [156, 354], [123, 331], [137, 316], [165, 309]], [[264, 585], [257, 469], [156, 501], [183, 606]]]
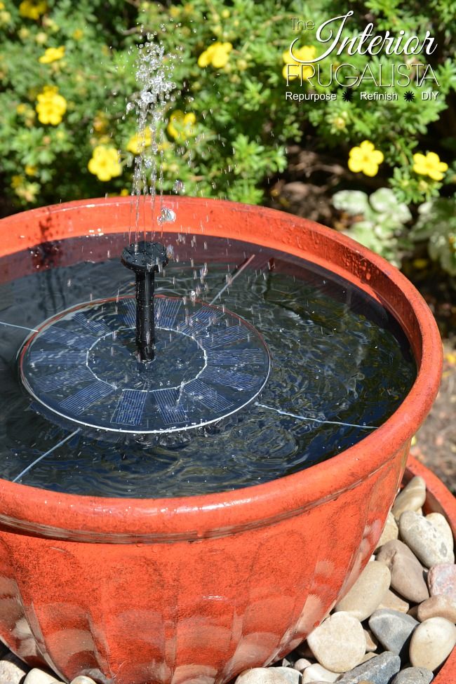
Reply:
[[[293, 32], [290, 17], [318, 26], [349, 10], [344, 36], [371, 21], [375, 32], [429, 30], [437, 49], [330, 55], [319, 62], [323, 83], [337, 60], [376, 74], [406, 62], [412, 76], [429, 62], [438, 86], [396, 83], [384, 88], [397, 93], [392, 101], [361, 101], [359, 90], [382, 90], [373, 80], [287, 86], [290, 41], [299, 38], [302, 54], [323, 50], [315, 31]], [[406, 271], [429, 260], [456, 276], [456, 0], [1, 1], [1, 213], [130, 193], [140, 145], [126, 102], [148, 32], [176, 55], [159, 149], [166, 192], [179, 179], [187, 194], [295, 210], [281, 188], [311, 179], [325, 189], [326, 222]], [[298, 102], [286, 90], [337, 98]], [[422, 100], [424, 90], [436, 99]], [[304, 154], [297, 175], [290, 149], [311, 154], [316, 173]], [[305, 200], [298, 213], [309, 213]]]

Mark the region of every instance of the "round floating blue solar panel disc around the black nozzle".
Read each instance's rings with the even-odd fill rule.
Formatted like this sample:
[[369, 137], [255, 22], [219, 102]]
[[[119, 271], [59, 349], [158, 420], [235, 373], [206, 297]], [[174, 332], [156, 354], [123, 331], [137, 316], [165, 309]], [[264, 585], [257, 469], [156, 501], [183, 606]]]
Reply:
[[270, 368], [257, 330], [205, 302], [154, 302], [153, 361], [138, 361], [134, 297], [86, 302], [45, 321], [20, 352], [37, 408], [79, 426], [151, 434], [207, 425], [253, 401]]

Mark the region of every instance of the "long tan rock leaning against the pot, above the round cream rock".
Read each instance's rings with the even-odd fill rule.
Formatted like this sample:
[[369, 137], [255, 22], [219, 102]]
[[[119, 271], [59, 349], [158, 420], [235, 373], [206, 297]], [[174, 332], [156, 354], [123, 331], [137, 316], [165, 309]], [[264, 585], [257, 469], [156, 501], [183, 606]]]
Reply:
[[382, 601], [390, 582], [391, 572], [384, 563], [368, 563], [348, 594], [336, 603], [335, 612], [343, 610], [362, 622]]

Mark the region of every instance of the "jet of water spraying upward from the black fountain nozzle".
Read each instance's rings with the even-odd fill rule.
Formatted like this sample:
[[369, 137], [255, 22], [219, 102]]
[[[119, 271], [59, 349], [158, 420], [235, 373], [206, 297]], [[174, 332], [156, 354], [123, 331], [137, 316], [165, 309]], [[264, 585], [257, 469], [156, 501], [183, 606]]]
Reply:
[[[163, 223], [163, 121], [166, 103], [175, 89], [174, 62], [174, 55], [165, 55], [164, 46], [161, 43], [155, 43], [152, 34], [148, 34], [147, 41], [138, 46], [136, 81], [140, 90], [126, 106], [127, 113], [135, 109], [138, 131], [138, 154], [135, 156], [131, 192], [135, 209], [135, 242], [140, 240], [141, 232], [143, 239], [147, 240], [148, 230], [152, 233], [153, 239], [156, 224]], [[160, 195], [158, 212], [156, 210], [157, 192]], [[150, 224], [145, 215], [147, 196], [151, 199]], [[142, 226], [140, 226], [141, 206], [143, 206]], [[131, 235], [129, 234], [128, 237], [131, 242]]]

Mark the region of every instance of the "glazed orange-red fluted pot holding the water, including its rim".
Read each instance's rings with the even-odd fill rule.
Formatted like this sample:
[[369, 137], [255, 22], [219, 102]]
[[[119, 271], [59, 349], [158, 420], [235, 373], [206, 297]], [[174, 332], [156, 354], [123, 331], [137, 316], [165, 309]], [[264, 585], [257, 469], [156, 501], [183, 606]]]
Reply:
[[[170, 232], [226, 236], [326, 267], [382, 302], [419, 372], [382, 427], [332, 459], [234, 492], [170, 499], [66, 495], [0, 480], [0, 638], [68, 680], [213, 684], [300, 643], [358, 577], [438, 389], [427, 304], [390, 264], [313, 222], [225, 201], [167, 198]], [[0, 255], [126, 232], [130, 199], [0, 222]], [[13, 274], [1, 274], [12, 279]]]

